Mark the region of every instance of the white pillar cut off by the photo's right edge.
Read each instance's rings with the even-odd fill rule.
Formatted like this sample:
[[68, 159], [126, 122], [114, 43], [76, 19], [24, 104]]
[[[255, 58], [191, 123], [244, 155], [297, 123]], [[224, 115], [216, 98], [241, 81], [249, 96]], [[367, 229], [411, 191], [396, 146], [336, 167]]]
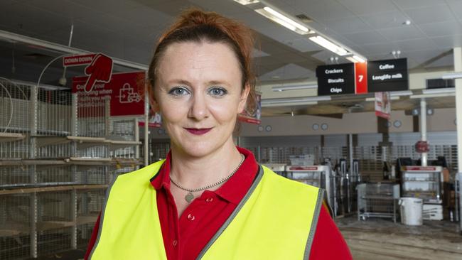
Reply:
[[[454, 48], [454, 71], [462, 71], [462, 47]], [[457, 163], [458, 172], [462, 172], [462, 79], [455, 80], [456, 120], [457, 120]]]

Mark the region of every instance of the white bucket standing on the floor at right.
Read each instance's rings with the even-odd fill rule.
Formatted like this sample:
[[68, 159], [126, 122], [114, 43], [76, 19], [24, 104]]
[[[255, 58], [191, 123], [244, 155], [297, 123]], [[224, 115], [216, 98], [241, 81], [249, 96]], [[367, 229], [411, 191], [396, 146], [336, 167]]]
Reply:
[[424, 201], [417, 197], [402, 197], [399, 199], [401, 211], [401, 223], [409, 226], [424, 224], [422, 219], [422, 208]]

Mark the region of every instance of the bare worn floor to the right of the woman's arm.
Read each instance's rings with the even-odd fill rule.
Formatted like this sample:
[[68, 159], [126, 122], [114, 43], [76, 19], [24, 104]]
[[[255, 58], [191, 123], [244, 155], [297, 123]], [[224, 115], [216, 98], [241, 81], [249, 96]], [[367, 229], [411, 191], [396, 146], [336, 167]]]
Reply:
[[355, 260], [462, 260], [456, 222], [424, 220], [418, 227], [378, 218], [345, 217], [335, 222]]

